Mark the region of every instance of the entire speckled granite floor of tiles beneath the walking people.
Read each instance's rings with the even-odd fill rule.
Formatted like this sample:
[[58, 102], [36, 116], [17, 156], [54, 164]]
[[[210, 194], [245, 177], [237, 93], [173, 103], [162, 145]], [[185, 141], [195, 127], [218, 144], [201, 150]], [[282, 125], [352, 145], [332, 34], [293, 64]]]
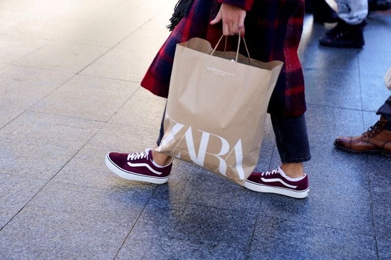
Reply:
[[[306, 199], [178, 160], [162, 185], [106, 168], [158, 134], [165, 100], [140, 80], [175, 2], [0, 1], [0, 259], [390, 259], [391, 159], [333, 147], [391, 94], [390, 13], [369, 16], [361, 50], [319, 46], [331, 25], [305, 17]], [[279, 164], [269, 119], [261, 155], [257, 170]]]

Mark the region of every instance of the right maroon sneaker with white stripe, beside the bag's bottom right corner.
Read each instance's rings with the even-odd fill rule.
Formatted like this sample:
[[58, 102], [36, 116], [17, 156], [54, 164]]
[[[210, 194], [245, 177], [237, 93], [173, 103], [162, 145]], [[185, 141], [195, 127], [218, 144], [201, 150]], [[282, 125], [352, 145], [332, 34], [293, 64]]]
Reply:
[[292, 179], [280, 167], [270, 172], [253, 172], [243, 186], [253, 191], [277, 193], [297, 199], [307, 197], [309, 191], [306, 174]]

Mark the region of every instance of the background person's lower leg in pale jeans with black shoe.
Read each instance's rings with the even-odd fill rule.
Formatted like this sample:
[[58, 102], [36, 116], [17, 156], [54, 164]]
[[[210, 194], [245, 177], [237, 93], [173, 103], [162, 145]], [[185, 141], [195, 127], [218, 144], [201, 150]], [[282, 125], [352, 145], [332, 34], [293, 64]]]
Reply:
[[319, 39], [327, 47], [362, 48], [364, 26], [368, 15], [368, 0], [337, 0], [338, 23]]

